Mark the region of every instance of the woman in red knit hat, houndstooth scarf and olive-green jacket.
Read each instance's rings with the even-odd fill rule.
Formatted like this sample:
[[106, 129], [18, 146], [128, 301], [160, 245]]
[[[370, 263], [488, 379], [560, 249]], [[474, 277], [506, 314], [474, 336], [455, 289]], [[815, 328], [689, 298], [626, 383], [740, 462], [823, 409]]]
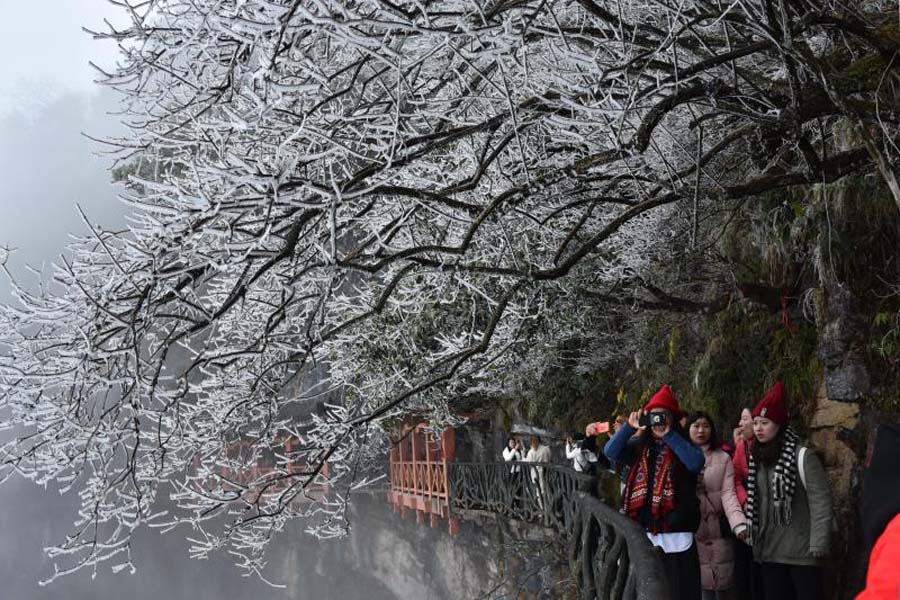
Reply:
[[766, 600], [824, 600], [831, 493], [816, 454], [788, 426], [784, 384], [753, 409], [745, 514]]

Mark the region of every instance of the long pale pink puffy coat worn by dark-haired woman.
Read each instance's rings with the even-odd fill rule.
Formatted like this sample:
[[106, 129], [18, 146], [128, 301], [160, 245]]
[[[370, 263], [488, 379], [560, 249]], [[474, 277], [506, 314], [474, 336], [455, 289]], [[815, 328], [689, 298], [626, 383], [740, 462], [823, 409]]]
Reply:
[[727, 590], [734, 586], [735, 540], [722, 538], [719, 516], [724, 512], [731, 530], [747, 519], [734, 491], [734, 466], [722, 450], [704, 449], [706, 466], [697, 482], [700, 527], [695, 539], [700, 555], [700, 579], [704, 590]]

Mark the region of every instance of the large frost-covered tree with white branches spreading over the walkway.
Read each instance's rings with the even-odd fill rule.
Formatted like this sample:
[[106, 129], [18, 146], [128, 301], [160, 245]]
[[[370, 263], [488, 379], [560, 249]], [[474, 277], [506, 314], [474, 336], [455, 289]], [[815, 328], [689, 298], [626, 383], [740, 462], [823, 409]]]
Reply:
[[712, 306], [644, 277], [711, 215], [900, 198], [887, 1], [110, 1], [128, 229], [0, 312], [5, 473], [82, 502], [60, 573], [142, 524], [261, 572], [289, 519], [340, 534], [386, 420], [604, 306]]

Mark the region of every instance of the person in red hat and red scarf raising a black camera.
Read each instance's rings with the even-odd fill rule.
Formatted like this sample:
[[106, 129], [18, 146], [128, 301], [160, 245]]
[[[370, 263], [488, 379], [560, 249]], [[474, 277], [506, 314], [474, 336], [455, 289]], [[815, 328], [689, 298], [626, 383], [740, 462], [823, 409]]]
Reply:
[[663, 551], [672, 600], [700, 600], [694, 532], [700, 524], [697, 474], [705, 459], [684, 435], [679, 424], [683, 416], [665, 385], [643, 410], [631, 413], [604, 452], [611, 461], [630, 465], [623, 512]]

